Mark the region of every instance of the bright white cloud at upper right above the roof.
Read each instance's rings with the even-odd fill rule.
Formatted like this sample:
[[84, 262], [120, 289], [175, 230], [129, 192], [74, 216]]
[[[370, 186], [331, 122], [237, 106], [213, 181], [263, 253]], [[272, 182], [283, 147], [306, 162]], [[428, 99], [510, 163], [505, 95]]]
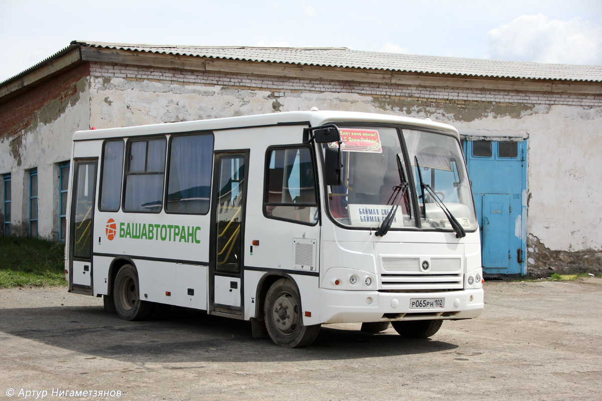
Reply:
[[524, 15], [487, 32], [487, 58], [536, 63], [602, 64], [602, 24]]

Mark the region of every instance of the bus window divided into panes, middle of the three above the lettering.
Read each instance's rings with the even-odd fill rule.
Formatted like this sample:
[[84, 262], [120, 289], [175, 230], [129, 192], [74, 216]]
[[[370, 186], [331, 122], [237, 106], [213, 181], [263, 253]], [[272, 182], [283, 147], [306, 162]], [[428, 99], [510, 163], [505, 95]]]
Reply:
[[160, 212], [163, 206], [166, 139], [128, 142], [125, 212]]

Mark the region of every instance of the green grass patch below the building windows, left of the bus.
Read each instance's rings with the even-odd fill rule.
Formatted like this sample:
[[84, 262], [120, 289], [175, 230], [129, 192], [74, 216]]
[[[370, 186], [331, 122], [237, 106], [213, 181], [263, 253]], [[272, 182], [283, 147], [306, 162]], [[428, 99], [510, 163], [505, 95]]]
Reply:
[[63, 243], [0, 238], [0, 288], [66, 285]]

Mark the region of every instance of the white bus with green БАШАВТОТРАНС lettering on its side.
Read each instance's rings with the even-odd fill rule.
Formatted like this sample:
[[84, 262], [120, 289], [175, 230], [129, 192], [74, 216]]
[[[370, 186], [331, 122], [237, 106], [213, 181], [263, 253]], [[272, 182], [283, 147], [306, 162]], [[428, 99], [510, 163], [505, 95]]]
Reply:
[[281, 112], [73, 134], [65, 274], [122, 319], [169, 305], [311, 344], [320, 325], [429, 337], [483, 310], [458, 131]]

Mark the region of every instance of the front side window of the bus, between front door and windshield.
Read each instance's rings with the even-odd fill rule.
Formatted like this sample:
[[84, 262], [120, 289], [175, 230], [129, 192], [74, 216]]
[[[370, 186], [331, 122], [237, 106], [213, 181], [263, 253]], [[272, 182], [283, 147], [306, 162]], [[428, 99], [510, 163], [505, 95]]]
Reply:
[[265, 167], [264, 215], [315, 224], [315, 174], [308, 147], [272, 148]]

